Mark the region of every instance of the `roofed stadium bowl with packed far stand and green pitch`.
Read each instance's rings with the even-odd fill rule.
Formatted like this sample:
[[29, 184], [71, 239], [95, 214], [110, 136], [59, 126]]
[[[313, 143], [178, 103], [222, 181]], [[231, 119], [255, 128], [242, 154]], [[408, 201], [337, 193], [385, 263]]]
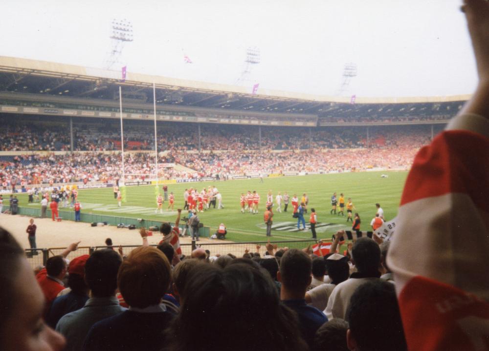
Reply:
[[[175, 209], [184, 205], [185, 189], [200, 192], [219, 182], [227, 206], [200, 216], [210, 231], [225, 222], [231, 241], [264, 239], [263, 228], [257, 227], [263, 227], [261, 219], [240, 216], [240, 194], [248, 190], [262, 195], [260, 213], [266, 210], [269, 190], [274, 193], [272, 203], [280, 191], [290, 196], [308, 194], [310, 207], [316, 208], [321, 221], [331, 224], [324, 231], [329, 236], [340, 224], [348, 229], [344, 219], [327, 216], [334, 192], [354, 198], [362, 218], [373, 218], [374, 204], [381, 202], [386, 218], [393, 219], [402, 175], [414, 155], [467, 100], [467, 96], [359, 98], [352, 103], [283, 91], [251, 94], [236, 86], [130, 72], [121, 82], [116, 71], [7, 57], [0, 63], [0, 119], [6, 131], [0, 146], [3, 194], [15, 187], [21, 205], [39, 210], [39, 195], [37, 202], [28, 202], [29, 189], [44, 193], [76, 185], [83, 213], [157, 220], [176, 215]], [[370, 172], [394, 174], [380, 179]], [[376, 198], [355, 189], [356, 184], [375, 188], [375, 181], [370, 185], [372, 179], [368, 180], [374, 175], [390, 182], [387, 188], [378, 186], [389, 193]], [[128, 186], [120, 208], [113, 206], [111, 195], [100, 198], [110, 194], [116, 182]], [[148, 198], [155, 197], [156, 207], [156, 197], [162, 193], [162, 189], [155, 193], [156, 182], [175, 194], [173, 211], [155, 214], [153, 204], [148, 206]], [[304, 182], [312, 186], [298, 186]], [[74, 216], [61, 217], [70, 215]], [[277, 229], [290, 221], [285, 214], [282, 217], [280, 224], [276, 221]], [[275, 234], [282, 240], [310, 238], [309, 232], [295, 231], [289, 238], [284, 230]]]

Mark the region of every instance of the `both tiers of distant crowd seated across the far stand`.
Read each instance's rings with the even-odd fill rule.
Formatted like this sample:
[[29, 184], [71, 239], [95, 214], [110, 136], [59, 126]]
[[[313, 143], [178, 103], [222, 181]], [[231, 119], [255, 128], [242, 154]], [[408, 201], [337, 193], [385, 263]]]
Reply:
[[[69, 149], [67, 125], [17, 124], [8, 119], [0, 149], [53, 151]], [[109, 122], [107, 122], [109, 123]], [[111, 122], [112, 123], [112, 122]], [[82, 125], [74, 131], [75, 150], [67, 154], [34, 153], [0, 156], [0, 180], [13, 185], [66, 182], [111, 182], [122, 176], [120, 130], [116, 125]], [[154, 140], [147, 125], [127, 125], [124, 171], [128, 180], [154, 175]], [[435, 128], [439, 132], [441, 127]], [[368, 137], [367, 137], [368, 133]], [[158, 130], [160, 178], [346, 172], [371, 168], [408, 169], [416, 151], [429, 143], [429, 126], [371, 128], [264, 127], [261, 145], [256, 127], [202, 125], [198, 151], [197, 125], [167, 123]], [[209, 151], [210, 150], [210, 151]], [[146, 151], [146, 152], [144, 152]]]

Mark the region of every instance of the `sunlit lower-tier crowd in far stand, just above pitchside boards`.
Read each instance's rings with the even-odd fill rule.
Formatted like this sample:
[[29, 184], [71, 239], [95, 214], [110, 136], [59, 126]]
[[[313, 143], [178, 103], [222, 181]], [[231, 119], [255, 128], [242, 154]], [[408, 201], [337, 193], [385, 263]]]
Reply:
[[[160, 178], [229, 177], [232, 175], [264, 175], [285, 172], [350, 172], [372, 168], [408, 169], [417, 148], [391, 146], [355, 151], [313, 150], [285, 151], [228, 151], [220, 153], [191, 153], [171, 151], [160, 155], [158, 163], [181, 165], [158, 167]], [[70, 182], [113, 182], [122, 177], [120, 153], [99, 152], [72, 154], [29, 154], [0, 157], [1, 185], [57, 184]], [[126, 180], [154, 177], [155, 156], [152, 153], [125, 153]]]

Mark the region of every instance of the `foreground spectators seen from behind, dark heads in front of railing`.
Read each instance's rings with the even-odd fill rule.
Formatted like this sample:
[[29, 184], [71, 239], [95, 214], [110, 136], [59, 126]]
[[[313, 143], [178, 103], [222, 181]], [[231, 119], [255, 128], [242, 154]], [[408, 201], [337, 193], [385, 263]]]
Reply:
[[[356, 240], [346, 256], [337, 253], [338, 232], [324, 257], [269, 242], [243, 257], [201, 248], [185, 257], [165, 239], [178, 234], [164, 228], [157, 248], [140, 230], [143, 244], [128, 256], [107, 248], [68, 262], [73, 243], [35, 279], [22, 248], [0, 228], [2, 296], [15, 297], [0, 299], [2, 350], [26, 350], [35, 337], [66, 351], [407, 349], [394, 285], [380, 278], [385, 268], [372, 239]], [[306, 302], [313, 278], [316, 289], [329, 287], [324, 311]], [[336, 290], [347, 292], [340, 298]], [[31, 308], [20, 300], [27, 294]]]

